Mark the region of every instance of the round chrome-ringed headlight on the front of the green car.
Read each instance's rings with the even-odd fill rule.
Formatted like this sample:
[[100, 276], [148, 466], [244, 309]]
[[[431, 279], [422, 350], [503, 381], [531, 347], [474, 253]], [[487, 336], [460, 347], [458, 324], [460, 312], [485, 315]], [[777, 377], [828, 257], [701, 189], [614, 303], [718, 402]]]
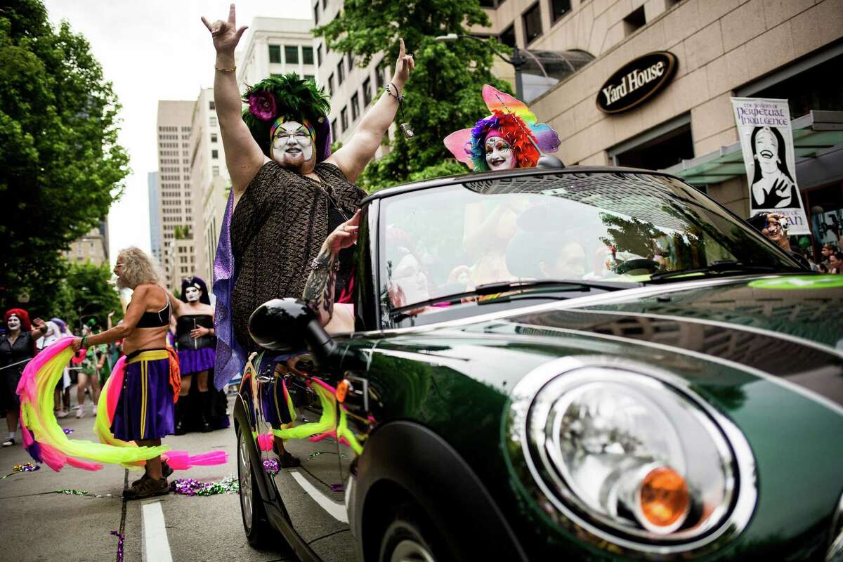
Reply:
[[[577, 408], [593, 404], [594, 396], [612, 392], [627, 404], [611, 409], [609, 417], [617, 411], [631, 411], [633, 418], [641, 416], [635, 423], [623, 418], [627, 425], [644, 420], [663, 430], [650, 439], [656, 447], [649, 448], [657, 449], [657, 454], [639, 450], [641, 439], [628, 439], [622, 450], [617, 443], [609, 444], [608, 453], [599, 450], [598, 457], [612, 457], [609, 468], [588, 464], [590, 453], [580, 449], [593, 448], [595, 443], [589, 441], [589, 432], [582, 427], [572, 431], [572, 427], [577, 428], [571, 422], [572, 411], [576, 418]], [[615, 430], [611, 435], [617, 437], [618, 433]], [[650, 435], [655, 435], [652, 428]], [[758, 494], [754, 457], [743, 433], [693, 392], [685, 380], [656, 367], [603, 356], [563, 357], [545, 363], [513, 389], [507, 437], [509, 451], [514, 452], [513, 464], [522, 468], [518, 471], [523, 474], [522, 483], [534, 500], [561, 526], [601, 548], [610, 543], [626, 550], [626, 554], [682, 554], [687, 559], [740, 533], [754, 511]], [[706, 453], [721, 459], [722, 480], [717, 480], [715, 487], [722, 489], [722, 494], [712, 495], [701, 490], [705, 486], [696, 485], [705, 479], [695, 474], [701, 468], [689, 448], [689, 437], [695, 440], [695, 447], [707, 443]], [[616, 454], [611, 447], [617, 448]], [[677, 452], [677, 447], [685, 451], [685, 456]], [[687, 456], [690, 459], [685, 459]], [[585, 462], [581, 462], [583, 458]], [[666, 467], [665, 458], [679, 459], [671, 463], [678, 466], [671, 468], [687, 478], [695, 507], [689, 510], [690, 515], [685, 512], [674, 523], [657, 528], [646, 524], [641, 511], [636, 512], [636, 500], [641, 497], [642, 477], [654, 468]], [[685, 466], [689, 461], [692, 466]], [[593, 479], [602, 480], [590, 485]]]

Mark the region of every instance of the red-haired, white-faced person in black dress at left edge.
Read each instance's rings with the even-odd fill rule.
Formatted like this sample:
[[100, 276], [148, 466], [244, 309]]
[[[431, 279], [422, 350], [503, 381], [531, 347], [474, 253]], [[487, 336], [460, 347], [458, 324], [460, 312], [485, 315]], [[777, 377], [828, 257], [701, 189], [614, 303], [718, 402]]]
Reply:
[[17, 393], [18, 383], [24, 373], [24, 367], [35, 357], [35, 340], [47, 332], [47, 325], [40, 318], [35, 318], [30, 324], [30, 314], [23, 308], [12, 308], [3, 314], [6, 323], [6, 333], [0, 335], [0, 374], [3, 384], [0, 385], [0, 408], [6, 411], [6, 425], [8, 439], [3, 447], [15, 444], [18, 433], [20, 415], [20, 398]]

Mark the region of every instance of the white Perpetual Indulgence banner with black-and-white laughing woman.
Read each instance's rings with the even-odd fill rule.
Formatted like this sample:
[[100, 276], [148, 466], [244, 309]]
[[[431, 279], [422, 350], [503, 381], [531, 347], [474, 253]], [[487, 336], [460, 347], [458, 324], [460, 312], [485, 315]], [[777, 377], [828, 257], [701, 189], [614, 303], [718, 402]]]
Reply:
[[749, 179], [749, 216], [778, 212], [788, 234], [809, 234], [796, 180], [796, 158], [787, 99], [732, 98]]

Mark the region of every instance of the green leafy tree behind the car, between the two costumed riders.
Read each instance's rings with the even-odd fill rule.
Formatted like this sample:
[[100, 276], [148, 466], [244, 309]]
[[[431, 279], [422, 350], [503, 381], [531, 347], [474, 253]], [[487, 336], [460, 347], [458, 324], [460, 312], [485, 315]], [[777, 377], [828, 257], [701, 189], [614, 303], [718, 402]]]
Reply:
[[[494, 55], [480, 41], [437, 43], [434, 38], [467, 34], [467, 28], [475, 24], [489, 24], [478, 0], [346, 0], [336, 19], [314, 29], [314, 35], [325, 37], [331, 49], [352, 53], [361, 66], [380, 52], [384, 52], [384, 62], [393, 64], [399, 37], [416, 61], [404, 91], [404, 115], [398, 115], [400, 121], [410, 123], [415, 136], [408, 140], [400, 132], [395, 135], [391, 152], [370, 163], [363, 173], [359, 184], [364, 189], [467, 171], [444, 147], [443, 139], [488, 115], [481, 96], [483, 84], [504, 91], [511, 88], [492, 76]], [[507, 50], [497, 41], [493, 45]]]

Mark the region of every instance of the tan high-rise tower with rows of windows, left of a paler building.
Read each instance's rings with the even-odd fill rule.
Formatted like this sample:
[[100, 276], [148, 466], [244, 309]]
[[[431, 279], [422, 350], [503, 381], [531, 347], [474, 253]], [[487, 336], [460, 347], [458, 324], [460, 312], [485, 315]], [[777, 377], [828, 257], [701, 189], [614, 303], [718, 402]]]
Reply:
[[193, 101], [158, 101], [158, 194], [161, 209], [162, 267], [170, 290], [193, 275], [196, 251], [191, 185]]

